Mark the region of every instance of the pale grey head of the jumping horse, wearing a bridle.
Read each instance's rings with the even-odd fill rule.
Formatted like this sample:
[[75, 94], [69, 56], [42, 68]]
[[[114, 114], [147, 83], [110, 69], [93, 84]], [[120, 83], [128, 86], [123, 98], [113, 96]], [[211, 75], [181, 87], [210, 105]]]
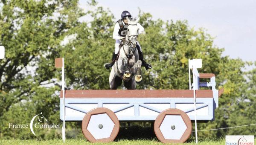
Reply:
[[126, 19], [128, 20], [128, 26], [127, 26], [127, 37], [128, 37], [128, 41], [131, 44], [132, 48], [135, 48], [137, 45], [137, 37], [138, 37], [138, 26], [137, 23], [140, 20], [140, 17], [138, 17], [137, 19], [129, 19], [128, 17], [126, 17]]

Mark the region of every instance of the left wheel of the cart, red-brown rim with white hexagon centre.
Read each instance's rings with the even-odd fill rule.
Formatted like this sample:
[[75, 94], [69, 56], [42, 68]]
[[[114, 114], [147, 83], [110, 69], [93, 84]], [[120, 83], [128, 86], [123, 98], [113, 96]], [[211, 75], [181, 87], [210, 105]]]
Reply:
[[119, 120], [108, 108], [90, 110], [82, 120], [82, 132], [90, 142], [111, 142], [119, 131]]

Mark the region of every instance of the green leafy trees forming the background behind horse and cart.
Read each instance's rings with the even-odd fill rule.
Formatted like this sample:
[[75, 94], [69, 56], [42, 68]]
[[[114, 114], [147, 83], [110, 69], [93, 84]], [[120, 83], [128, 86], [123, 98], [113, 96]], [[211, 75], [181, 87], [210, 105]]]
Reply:
[[[33, 116], [45, 112], [49, 123], [60, 124], [60, 71], [54, 59], [65, 58], [67, 89], [109, 89], [103, 64], [111, 60], [113, 14], [96, 1], [95, 8], [83, 12], [78, 0], [2, 0], [0, 7], [0, 45], [6, 58], [0, 60], [0, 138], [60, 137], [61, 130], [40, 130], [38, 137], [29, 129], [10, 129], [9, 122], [29, 123]], [[0, 4], [1, 6], [1, 4]], [[79, 18], [90, 16], [89, 22]], [[153, 20], [140, 12], [145, 34], [138, 38], [144, 59], [152, 69], [143, 69], [143, 82], [137, 89], [188, 89], [188, 59], [202, 58], [200, 73], [214, 73], [217, 88], [225, 88], [215, 110], [215, 121], [201, 123], [198, 130], [251, 124], [256, 113], [256, 70], [243, 72], [247, 62], [222, 56], [223, 48], [213, 45], [204, 29], [190, 28], [186, 20]], [[76, 137], [80, 123], [67, 122], [69, 137]], [[237, 128], [200, 132], [201, 137], [255, 133], [256, 128]], [[80, 133], [81, 135], [81, 133]]]

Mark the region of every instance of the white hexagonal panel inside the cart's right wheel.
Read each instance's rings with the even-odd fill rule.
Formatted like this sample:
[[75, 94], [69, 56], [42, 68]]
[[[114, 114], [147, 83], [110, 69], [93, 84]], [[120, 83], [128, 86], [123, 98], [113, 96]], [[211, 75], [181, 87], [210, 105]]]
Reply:
[[[171, 126], [174, 125], [175, 129]], [[160, 131], [165, 139], [180, 139], [186, 131], [186, 124], [180, 115], [166, 115], [160, 125]]]

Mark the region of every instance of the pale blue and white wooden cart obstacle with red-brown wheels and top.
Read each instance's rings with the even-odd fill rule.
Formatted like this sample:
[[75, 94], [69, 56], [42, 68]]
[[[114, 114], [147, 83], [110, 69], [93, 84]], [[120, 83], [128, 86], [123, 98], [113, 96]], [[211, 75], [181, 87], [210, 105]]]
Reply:
[[[55, 65], [64, 71], [63, 61], [55, 61]], [[215, 89], [214, 74], [198, 73], [193, 68], [193, 78], [193, 90], [63, 88], [60, 93], [60, 119], [63, 122], [82, 121], [83, 134], [90, 142], [113, 141], [119, 131], [119, 121], [154, 122], [154, 132], [161, 142], [185, 142], [192, 131], [191, 120], [215, 119], [214, 110], [223, 92], [223, 89]], [[200, 78], [210, 78], [210, 82], [200, 83]], [[211, 90], [199, 90], [200, 87], [210, 87]]]

